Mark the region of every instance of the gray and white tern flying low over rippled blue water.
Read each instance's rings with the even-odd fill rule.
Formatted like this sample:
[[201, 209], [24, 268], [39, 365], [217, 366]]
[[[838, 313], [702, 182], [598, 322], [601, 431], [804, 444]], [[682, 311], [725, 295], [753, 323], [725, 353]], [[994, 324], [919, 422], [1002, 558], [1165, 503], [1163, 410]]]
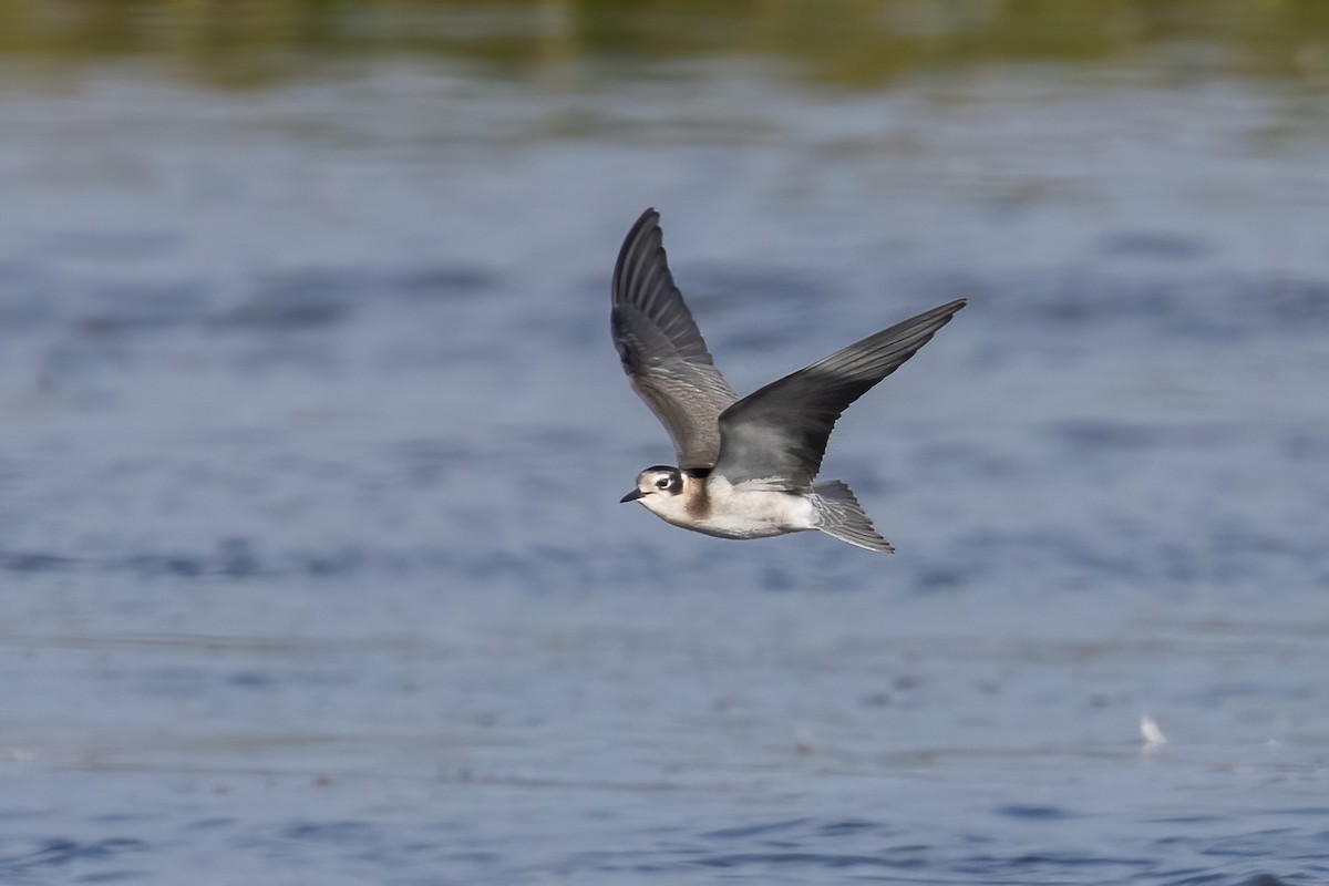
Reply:
[[678, 466], [647, 468], [622, 501], [719, 538], [819, 530], [894, 551], [849, 486], [813, 481], [840, 413], [962, 307], [957, 299], [925, 311], [740, 400], [674, 284], [659, 213], [646, 210], [618, 254], [610, 329], [627, 379], [674, 441]]

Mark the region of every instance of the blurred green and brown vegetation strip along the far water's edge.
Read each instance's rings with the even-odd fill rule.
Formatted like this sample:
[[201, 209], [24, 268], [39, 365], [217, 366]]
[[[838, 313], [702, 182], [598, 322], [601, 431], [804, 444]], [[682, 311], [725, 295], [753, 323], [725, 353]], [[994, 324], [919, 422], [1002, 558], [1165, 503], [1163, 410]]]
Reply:
[[1176, 50], [1172, 74], [1329, 85], [1329, 0], [0, 0], [0, 64], [166, 62], [260, 85], [311, 62], [552, 65], [756, 57], [874, 86], [986, 62], [1119, 61]]

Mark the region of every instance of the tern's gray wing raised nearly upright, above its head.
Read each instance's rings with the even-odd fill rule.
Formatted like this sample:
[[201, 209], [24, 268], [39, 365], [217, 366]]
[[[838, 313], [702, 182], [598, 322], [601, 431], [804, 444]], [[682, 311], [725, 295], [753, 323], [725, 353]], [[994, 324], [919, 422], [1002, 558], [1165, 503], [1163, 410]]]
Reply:
[[623, 240], [610, 328], [633, 388], [674, 440], [678, 466], [711, 468], [720, 453], [720, 413], [738, 396], [674, 286], [659, 218], [646, 210]]

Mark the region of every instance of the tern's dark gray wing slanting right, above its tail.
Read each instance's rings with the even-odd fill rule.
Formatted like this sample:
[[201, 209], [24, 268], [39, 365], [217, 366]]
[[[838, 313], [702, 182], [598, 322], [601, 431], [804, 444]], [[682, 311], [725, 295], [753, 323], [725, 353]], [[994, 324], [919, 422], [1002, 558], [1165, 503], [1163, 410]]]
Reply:
[[897, 323], [739, 400], [720, 414], [715, 473], [734, 484], [772, 480], [785, 489], [808, 489], [840, 413], [928, 344], [962, 307], [965, 300], [958, 299]]

